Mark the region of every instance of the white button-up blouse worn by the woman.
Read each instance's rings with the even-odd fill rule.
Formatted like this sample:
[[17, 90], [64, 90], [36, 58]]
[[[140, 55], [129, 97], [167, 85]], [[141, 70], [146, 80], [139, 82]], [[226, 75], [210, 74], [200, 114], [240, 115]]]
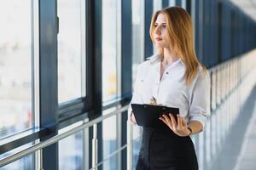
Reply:
[[[185, 65], [178, 59], [166, 68], [160, 79], [160, 58], [158, 54], [153, 55], [137, 67], [131, 104], [149, 104], [154, 97], [157, 105], [177, 107], [187, 123], [198, 121], [204, 128], [209, 114], [209, 74], [204, 74], [200, 67], [194, 81], [187, 86], [184, 72]], [[131, 105], [128, 113], [131, 114]]]

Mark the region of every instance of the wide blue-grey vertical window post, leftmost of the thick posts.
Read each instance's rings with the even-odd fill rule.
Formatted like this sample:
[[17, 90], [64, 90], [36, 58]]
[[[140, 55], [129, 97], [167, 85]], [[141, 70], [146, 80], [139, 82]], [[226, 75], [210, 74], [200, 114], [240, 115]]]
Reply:
[[[40, 127], [57, 133], [57, 2], [39, 1], [39, 97]], [[47, 30], [47, 31], [46, 31]], [[44, 139], [40, 139], [44, 141]], [[43, 168], [58, 169], [58, 144], [42, 150]]]

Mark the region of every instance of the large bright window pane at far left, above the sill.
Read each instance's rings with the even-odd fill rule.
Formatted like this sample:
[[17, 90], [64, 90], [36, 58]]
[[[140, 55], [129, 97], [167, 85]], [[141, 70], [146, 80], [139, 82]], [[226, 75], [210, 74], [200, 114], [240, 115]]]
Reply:
[[32, 127], [31, 8], [0, 1], [0, 139]]

